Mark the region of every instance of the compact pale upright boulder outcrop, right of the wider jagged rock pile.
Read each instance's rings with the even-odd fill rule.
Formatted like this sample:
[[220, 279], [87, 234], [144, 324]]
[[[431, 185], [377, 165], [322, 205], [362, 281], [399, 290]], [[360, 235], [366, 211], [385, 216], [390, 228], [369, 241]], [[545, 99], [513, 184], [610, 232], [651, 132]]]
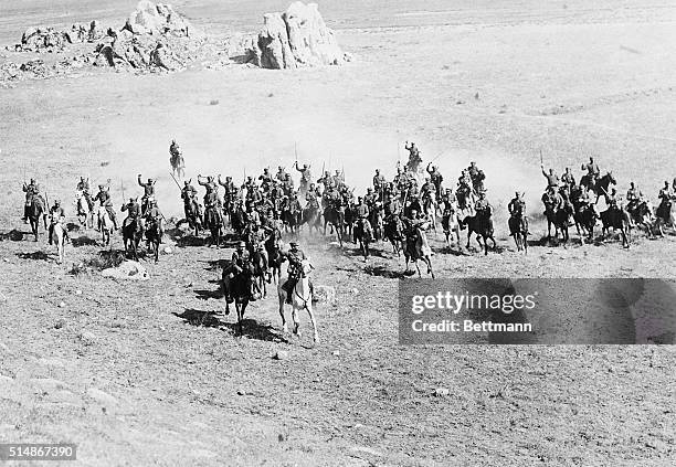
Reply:
[[284, 13], [263, 17], [263, 30], [249, 54], [263, 68], [339, 65], [350, 61], [342, 52], [317, 3], [296, 1]]

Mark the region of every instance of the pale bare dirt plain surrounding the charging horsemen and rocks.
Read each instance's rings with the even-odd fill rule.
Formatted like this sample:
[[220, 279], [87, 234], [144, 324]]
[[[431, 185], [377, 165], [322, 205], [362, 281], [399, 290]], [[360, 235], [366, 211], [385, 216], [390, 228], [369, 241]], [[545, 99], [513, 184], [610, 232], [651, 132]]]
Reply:
[[[1, 1], [0, 43], [29, 25], [122, 22], [134, 3]], [[263, 12], [286, 4], [175, 7], [219, 34], [255, 30]], [[577, 176], [594, 156], [620, 191], [634, 180], [653, 200], [676, 176], [669, 2], [320, 9], [357, 56], [348, 66], [101, 71], [0, 89], [0, 441], [77, 443], [81, 465], [674, 465], [672, 346], [401, 347], [403, 265], [389, 247], [365, 267], [351, 247], [304, 240], [315, 282], [338, 295], [318, 308], [313, 347], [306, 317], [304, 337], [284, 339], [275, 298], [254, 304], [246, 336], [233, 336], [215, 295], [216, 263], [230, 250], [179, 243], [147, 264], [150, 280], [116, 283], [68, 273], [105, 250], [87, 241], [93, 233], [72, 234], [65, 265], [44, 235], [12, 240], [10, 231], [28, 231], [24, 173], [70, 212], [80, 176], [110, 178], [116, 204], [122, 184], [138, 192], [137, 173], [157, 177], [161, 208], [177, 215], [171, 138], [190, 177], [288, 168], [297, 142], [316, 172], [345, 166], [361, 188], [376, 167], [391, 177], [398, 146], [414, 140], [425, 160], [442, 155], [453, 183], [476, 160], [499, 211], [525, 189], [537, 236], [540, 149], [547, 166]], [[676, 277], [674, 235], [641, 235], [630, 251], [535, 246], [524, 257], [505, 224], [498, 217], [500, 250], [488, 257], [446, 254], [433, 240], [439, 276]], [[288, 359], [272, 359], [278, 350]], [[450, 395], [434, 397], [440, 386]]]

